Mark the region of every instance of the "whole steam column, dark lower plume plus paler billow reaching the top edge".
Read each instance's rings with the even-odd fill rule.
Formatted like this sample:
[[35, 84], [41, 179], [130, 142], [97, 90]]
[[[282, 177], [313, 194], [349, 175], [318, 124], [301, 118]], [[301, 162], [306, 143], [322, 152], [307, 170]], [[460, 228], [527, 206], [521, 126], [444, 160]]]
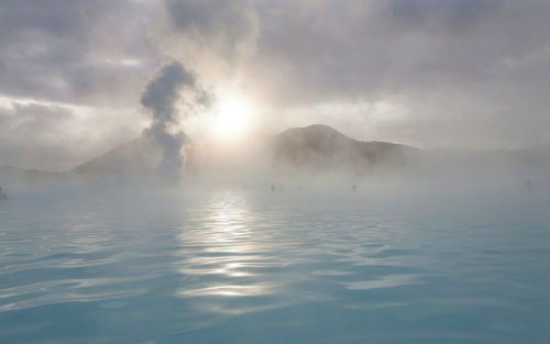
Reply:
[[164, 0], [163, 4], [152, 37], [163, 55], [175, 62], [162, 67], [142, 95], [141, 103], [152, 113], [142, 137], [147, 148], [160, 153], [157, 177], [176, 184], [185, 166], [182, 149], [190, 142], [178, 124], [206, 110], [213, 99], [184, 65], [208, 85], [237, 80], [240, 67], [255, 53], [260, 27], [246, 0]]

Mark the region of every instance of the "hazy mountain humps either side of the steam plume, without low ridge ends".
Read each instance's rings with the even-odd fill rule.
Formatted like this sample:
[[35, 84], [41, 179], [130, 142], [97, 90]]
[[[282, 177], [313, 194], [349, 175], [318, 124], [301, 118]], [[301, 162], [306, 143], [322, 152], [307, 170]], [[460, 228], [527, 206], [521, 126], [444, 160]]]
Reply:
[[[252, 153], [253, 152], [253, 153]], [[361, 142], [327, 125], [293, 127], [276, 135], [254, 136], [231, 149], [224, 145], [202, 144], [186, 149], [186, 170], [250, 170], [260, 160], [273, 168], [326, 171], [352, 168], [364, 173], [378, 166], [403, 166], [420, 151], [388, 142]], [[153, 175], [157, 160], [146, 142], [136, 138], [123, 143], [73, 169], [78, 174]]]

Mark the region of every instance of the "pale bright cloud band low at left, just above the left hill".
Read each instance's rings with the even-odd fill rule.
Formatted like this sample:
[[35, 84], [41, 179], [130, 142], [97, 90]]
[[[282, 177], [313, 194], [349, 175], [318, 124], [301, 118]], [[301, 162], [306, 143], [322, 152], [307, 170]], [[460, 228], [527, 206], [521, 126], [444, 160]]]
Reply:
[[0, 99], [0, 166], [68, 170], [139, 135], [138, 119], [132, 111]]

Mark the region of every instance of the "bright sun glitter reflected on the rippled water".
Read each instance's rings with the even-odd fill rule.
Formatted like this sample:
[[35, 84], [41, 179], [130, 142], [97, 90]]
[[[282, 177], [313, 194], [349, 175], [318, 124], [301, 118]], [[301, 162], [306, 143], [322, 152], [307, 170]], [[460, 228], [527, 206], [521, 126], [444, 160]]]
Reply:
[[[256, 278], [261, 268], [270, 264], [252, 225], [254, 215], [245, 195], [215, 193], [202, 211], [195, 226], [186, 224], [177, 235], [183, 258], [178, 271], [186, 284], [176, 295], [193, 298], [270, 293], [275, 285], [258, 282]], [[193, 221], [193, 214], [189, 220]]]

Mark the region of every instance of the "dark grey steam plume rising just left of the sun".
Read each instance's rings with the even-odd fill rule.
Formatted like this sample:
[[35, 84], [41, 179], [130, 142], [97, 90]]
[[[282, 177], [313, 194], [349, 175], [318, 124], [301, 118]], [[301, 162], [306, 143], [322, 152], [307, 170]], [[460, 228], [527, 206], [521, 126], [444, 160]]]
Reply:
[[[185, 163], [182, 148], [189, 138], [176, 127], [178, 114], [184, 118], [194, 114], [196, 107], [207, 106], [209, 99], [195, 75], [179, 62], [164, 66], [147, 84], [141, 103], [151, 111], [153, 119], [142, 136], [161, 153], [156, 174], [163, 180], [178, 182]], [[179, 111], [178, 103], [182, 103], [183, 111]]]

